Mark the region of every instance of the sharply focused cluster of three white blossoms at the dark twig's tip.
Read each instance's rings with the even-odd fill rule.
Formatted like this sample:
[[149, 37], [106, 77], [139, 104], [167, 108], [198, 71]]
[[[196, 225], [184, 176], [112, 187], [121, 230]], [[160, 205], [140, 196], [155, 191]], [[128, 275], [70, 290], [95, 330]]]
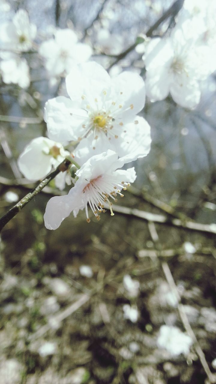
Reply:
[[48, 138], [33, 139], [18, 159], [25, 177], [38, 180], [70, 156], [73, 165], [56, 177], [56, 186], [73, 182], [74, 187], [49, 200], [48, 229], [80, 209], [90, 222], [88, 206], [97, 220], [106, 209], [114, 215], [112, 202], [136, 179], [134, 167], [122, 167], [146, 156], [151, 144], [148, 122], [136, 115], [145, 104], [145, 83], [138, 74], [125, 71], [110, 78], [92, 61], [71, 68], [66, 89], [70, 98], [58, 96], [45, 104]]

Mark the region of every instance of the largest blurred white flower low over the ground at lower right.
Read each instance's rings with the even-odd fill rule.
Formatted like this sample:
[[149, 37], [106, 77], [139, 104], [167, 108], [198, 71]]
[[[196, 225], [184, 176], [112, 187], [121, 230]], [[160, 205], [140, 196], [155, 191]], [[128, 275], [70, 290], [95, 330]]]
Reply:
[[181, 332], [177, 327], [162, 325], [157, 339], [159, 348], [166, 349], [171, 356], [178, 356], [181, 353], [187, 355], [193, 340], [186, 333]]

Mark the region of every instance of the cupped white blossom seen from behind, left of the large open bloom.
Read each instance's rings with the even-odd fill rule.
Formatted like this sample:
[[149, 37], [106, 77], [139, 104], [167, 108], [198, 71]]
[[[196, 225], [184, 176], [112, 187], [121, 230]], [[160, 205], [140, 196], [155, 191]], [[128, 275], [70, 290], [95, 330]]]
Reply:
[[47, 137], [33, 139], [18, 157], [18, 167], [28, 180], [43, 179], [57, 167], [69, 152], [63, 146]]

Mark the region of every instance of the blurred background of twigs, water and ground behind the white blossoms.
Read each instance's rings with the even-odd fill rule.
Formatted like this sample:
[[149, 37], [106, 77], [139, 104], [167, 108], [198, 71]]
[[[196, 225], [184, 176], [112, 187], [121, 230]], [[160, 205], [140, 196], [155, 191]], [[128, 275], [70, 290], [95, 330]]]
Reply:
[[[111, 76], [130, 70], [145, 77], [138, 36], [162, 36], [182, 3], [1, 1], [0, 23], [25, 9], [37, 25], [34, 49], [22, 53], [30, 86], [1, 82], [1, 216], [36, 185], [23, 179], [17, 158], [30, 140], [46, 135], [45, 102], [66, 95], [64, 77], [49, 76], [37, 46], [55, 28], [71, 28]], [[114, 217], [87, 224], [80, 212], [47, 230], [45, 206], [59, 193], [51, 182], [3, 228], [2, 384], [214, 382], [207, 368], [216, 372], [215, 75], [201, 87], [192, 111], [169, 96], [146, 99], [141, 114], [151, 126], [151, 151], [132, 164], [136, 182]], [[184, 354], [160, 348], [163, 325], [196, 338], [207, 368], [195, 342]]]

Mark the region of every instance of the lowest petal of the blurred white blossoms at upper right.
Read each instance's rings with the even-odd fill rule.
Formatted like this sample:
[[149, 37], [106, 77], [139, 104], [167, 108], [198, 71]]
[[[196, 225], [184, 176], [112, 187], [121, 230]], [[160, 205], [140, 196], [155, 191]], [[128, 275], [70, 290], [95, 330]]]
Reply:
[[186, 76], [171, 85], [170, 93], [177, 104], [189, 109], [195, 108], [201, 97], [198, 81], [190, 81]]

